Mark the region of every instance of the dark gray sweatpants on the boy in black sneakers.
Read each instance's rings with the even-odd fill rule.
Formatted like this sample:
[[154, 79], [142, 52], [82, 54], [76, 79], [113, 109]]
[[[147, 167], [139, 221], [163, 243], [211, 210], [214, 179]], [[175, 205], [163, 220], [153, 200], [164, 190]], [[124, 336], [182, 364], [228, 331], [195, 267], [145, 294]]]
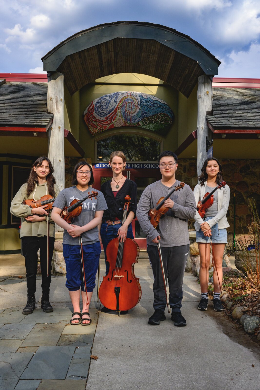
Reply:
[[[189, 245], [161, 246], [166, 283], [167, 279], [169, 283], [169, 303], [173, 313], [180, 312], [182, 307], [182, 283], [188, 252]], [[157, 245], [147, 245], [147, 253], [154, 274], [152, 287], [154, 291], [154, 310], [164, 310], [166, 297]]]

